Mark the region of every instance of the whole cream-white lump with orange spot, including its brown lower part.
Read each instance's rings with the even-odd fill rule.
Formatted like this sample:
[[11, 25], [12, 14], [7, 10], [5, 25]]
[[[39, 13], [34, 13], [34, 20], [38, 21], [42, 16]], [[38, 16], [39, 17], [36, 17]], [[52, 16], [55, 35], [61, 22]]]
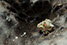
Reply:
[[44, 21], [37, 24], [37, 27], [42, 30], [43, 34], [47, 34], [49, 31], [52, 30], [54, 25], [52, 24], [51, 20], [45, 19]]

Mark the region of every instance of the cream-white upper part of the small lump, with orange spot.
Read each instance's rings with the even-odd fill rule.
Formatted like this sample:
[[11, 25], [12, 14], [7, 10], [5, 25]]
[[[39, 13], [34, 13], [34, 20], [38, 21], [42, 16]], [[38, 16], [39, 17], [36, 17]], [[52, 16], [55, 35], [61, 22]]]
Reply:
[[45, 19], [44, 21], [37, 24], [37, 27], [40, 29], [49, 30], [49, 29], [52, 29], [54, 27], [54, 25], [52, 24], [51, 20]]

